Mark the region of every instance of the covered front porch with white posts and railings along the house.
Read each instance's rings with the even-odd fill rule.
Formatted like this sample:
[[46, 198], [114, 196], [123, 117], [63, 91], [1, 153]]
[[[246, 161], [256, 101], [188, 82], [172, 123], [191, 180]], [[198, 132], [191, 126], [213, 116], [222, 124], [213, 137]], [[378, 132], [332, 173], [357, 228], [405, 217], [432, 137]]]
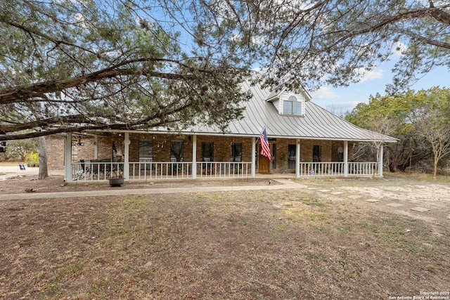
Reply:
[[[206, 141], [205, 136], [195, 134], [188, 136], [187, 145], [191, 149], [186, 149], [186, 155], [174, 158], [173, 155], [168, 161], [158, 159], [158, 155], [153, 154], [148, 159], [136, 159], [136, 155], [130, 155], [133, 152], [134, 142], [130, 140], [130, 133], [121, 133], [120, 144], [122, 149], [116, 149], [112, 157], [98, 159], [98, 146], [101, 142], [95, 137], [93, 143], [94, 150], [92, 157], [82, 159], [72, 159], [72, 133], [68, 133], [65, 142], [65, 178], [66, 181], [108, 181], [113, 177], [123, 177], [127, 181], [154, 181], [167, 179], [198, 179], [198, 178], [255, 178], [257, 174], [285, 174], [293, 177], [316, 177], [316, 176], [383, 176], [383, 147], [380, 150], [380, 157], [377, 162], [351, 162], [349, 161], [349, 141], [342, 141], [340, 149], [341, 161], [333, 162], [333, 156], [330, 153], [328, 162], [317, 162], [313, 159], [309, 162], [302, 161], [301, 149], [302, 143], [307, 143], [302, 139], [295, 139], [286, 142], [270, 142], [273, 151], [274, 162], [268, 163], [268, 169], [263, 169], [265, 157], [259, 155], [259, 143], [257, 137], [247, 137], [249, 147], [243, 148], [238, 158], [231, 155], [223, 155], [223, 152], [217, 151], [217, 155], [205, 158], [203, 146], [198, 145], [198, 139]], [[230, 140], [231, 141], [231, 140]], [[115, 142], [113, 142], [115, 143]], [[203, 142], [205, 143], [205, 142]], [[233, 145], [233, 141], [226, 141]], [[278, 143], [278, 148], [275, 147]], [[218, 143], [217, 143], [218, 144]], [[280, 147], [280, 145], [282, 147]], [[159, 146], [159, 144], [158, 144]], [[287, 147], [288, 146], [288, 147]], [[242, 147], [242, 146], [241, 146]], [[233, 148], [233, 147], [232, 147]], [[248, 149], [247, 149], [248, 148]], [[281, 149], [283, 148], [283, 149]], [[285, 149], [288, 148], [288, 149]], [[289, 151], [288, 151], [289, 150]], [[167, 150], [166, 150], [167, 151]], [[306, 151], [305, 151], [306, 152]], [[117, 155], [120, 154], [120, 155]], [[254, 154], [254, 155], [252, 155]], [[221, 156], [221, 159], [217, 159]], [[276, 169], [276, 162], [283, 164], [283, 157], [288, 157], [291, 169]], [[220, 160], [220, 161], [217, 161]], [[304, 160], [304, 159], [303, 159]], [[377, 165], [378, 164], [378, 165]]]

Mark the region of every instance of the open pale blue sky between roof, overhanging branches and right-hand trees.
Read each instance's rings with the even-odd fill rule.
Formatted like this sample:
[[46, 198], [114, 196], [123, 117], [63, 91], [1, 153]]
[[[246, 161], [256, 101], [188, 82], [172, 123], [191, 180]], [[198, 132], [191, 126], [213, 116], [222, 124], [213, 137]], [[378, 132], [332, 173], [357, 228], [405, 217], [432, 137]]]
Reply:
[[[391, 69], [394, 63], [393, 60], [379, 65], [357, 84], [340, 88], [322, 86], [318, 91], [310, 92], [312, 101], [337, 115], [352, 110], [358, 103], [368, 103], [371, 95], [375, 96], [376, 93], [380, 93], [383, 96], [386, 94], [386, 85], [392, 83]], [[433, 86], [450, 87], [448, 69], [441, 67], [433, 70], [410, 88], [419, 91], [420, 89], [430, 89]]]

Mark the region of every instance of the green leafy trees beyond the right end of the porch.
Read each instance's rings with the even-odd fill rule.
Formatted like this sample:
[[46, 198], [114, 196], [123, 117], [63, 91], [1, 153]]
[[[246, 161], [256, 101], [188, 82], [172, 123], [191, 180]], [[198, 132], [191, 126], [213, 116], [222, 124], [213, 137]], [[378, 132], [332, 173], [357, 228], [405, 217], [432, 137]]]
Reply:
[[[418, 92], [409, 90], [397, 96], [377, 94], [368, 104], [357, 105], [346, 119], [375, 132], [378, 132], [376, 124], [393, 124], [390, 135], [399, 138], [399, 143], [386, 147], [385, 158], [390, 171], [405, 171], [430, 157], [445, 157], [450, 138], [449, 95], [450, 89], [439, 87]], [[437, 155], [438, 148], [443, 150], [441, 155]], [[439, 159], [435, 161], [435, 170]]]

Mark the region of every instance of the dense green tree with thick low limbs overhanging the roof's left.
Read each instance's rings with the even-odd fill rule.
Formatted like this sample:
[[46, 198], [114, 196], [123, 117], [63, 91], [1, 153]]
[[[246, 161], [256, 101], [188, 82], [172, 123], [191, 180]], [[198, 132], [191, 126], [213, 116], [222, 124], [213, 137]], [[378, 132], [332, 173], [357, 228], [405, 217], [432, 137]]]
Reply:
[[[183, 49], [151, 1], [0, 4], [4, 139], [97, 129], [224, 128], [247, 68], [207, 45]], [[25, 129], [37, 129], [23, 133]]]

